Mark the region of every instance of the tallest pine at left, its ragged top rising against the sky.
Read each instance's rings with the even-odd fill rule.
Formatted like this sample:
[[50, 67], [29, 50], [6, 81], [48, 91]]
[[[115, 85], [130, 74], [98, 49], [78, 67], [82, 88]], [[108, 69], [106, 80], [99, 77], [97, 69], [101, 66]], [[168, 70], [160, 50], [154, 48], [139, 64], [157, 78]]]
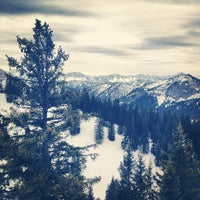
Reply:
[[[20, 62], [7, 56], [20, 75], [22, 94], [14, 101], [9, 127], [13, 150], [1, 172], [8, 199], [86, 199], [85, 148], [75, 148], [59, 134], [74, 123], [62, 78], [68, 55], [55, 49], [52, 30], [36, 19], [33, 39], [17, 37]], [[20, 112], [19, 108], [22, 110]], [[17, 110], [18, 109], [18, 110]], [[74, 130], [73, 130], [74, 131]], [[77, 130], [75, 130], [75, 133]]]

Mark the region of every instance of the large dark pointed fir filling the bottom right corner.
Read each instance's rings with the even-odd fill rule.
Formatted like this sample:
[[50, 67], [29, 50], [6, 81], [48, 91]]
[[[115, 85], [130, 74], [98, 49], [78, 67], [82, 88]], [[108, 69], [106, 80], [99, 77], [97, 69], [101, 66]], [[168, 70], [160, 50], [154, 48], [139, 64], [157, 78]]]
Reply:
[[161, 199], [197, 200], [200, 196], [200, 163], [181, 124], [173, 132], [164, 175], [161, 181]]

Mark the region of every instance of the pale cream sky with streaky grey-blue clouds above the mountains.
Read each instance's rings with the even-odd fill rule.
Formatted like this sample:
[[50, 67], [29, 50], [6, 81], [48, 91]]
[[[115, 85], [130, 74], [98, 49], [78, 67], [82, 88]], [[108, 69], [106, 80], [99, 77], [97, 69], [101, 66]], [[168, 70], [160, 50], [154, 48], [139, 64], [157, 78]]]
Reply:
[[200, 0], [0, 0], [0, 67], [35, 19], [70, 54], [65, 72], [200, 77]]

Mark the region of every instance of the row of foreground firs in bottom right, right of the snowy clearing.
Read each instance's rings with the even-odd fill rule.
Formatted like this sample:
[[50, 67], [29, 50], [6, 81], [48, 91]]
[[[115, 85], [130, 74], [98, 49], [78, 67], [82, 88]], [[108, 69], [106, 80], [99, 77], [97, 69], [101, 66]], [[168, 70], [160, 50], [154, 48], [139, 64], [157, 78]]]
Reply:
[[120, 179], [112, 178], [106, 200], [198, 200], [200, 195], [200, 162], [191, 141], [179, 124], [172, 133], [172, 143], [162, 162], [162, 173], [153, 172], [141, 155], [134, 158], [127, 145], [120, 164]]

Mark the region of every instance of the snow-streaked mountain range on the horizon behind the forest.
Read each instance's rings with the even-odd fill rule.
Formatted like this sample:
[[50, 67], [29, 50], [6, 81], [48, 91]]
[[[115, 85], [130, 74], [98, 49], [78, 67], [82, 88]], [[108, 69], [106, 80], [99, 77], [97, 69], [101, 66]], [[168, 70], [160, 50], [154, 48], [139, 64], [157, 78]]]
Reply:
[[157, 109], [183, 111], [200, 117], [200, 79], [180, 73], [173, 76], [86, 76], [69, 73], [68, 86], [87, 89], [90, 95], [102, 100], [119, 99], [121, 103]]

